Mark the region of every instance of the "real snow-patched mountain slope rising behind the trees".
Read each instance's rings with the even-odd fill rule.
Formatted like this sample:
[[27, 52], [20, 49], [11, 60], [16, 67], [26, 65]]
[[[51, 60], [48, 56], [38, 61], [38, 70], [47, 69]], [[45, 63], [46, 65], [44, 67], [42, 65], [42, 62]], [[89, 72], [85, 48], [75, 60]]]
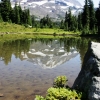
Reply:
[[59, 19], [65, 16], [69, 7], [73, 14], [77, 14], [82, 9], [82, 5], [77, 0], [12, 0], [12, 6], [15, 2], [23, 9], [29, 8], [32, 15], [40, 18], [48, 14], [52, 18]]

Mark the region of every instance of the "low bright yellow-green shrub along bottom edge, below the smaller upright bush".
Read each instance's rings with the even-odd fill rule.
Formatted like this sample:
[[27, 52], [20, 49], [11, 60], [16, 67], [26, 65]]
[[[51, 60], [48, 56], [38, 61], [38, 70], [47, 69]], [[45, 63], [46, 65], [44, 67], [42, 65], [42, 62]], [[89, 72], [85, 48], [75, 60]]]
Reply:
[[81, 100], [82, 93], [66, 88], [49, 88], [46, 97], [37, 95], [36, 100]]

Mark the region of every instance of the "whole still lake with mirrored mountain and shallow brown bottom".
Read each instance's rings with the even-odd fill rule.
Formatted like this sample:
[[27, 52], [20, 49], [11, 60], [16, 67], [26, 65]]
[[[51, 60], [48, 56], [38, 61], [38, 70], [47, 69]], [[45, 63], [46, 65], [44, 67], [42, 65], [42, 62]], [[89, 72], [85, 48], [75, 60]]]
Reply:
[[[92, 39], [93, 41], [98, 41]], [[0, 43], [0, 100], [45, 96], [59, 75], [71, 87], [91, 38], [25, 39]]]

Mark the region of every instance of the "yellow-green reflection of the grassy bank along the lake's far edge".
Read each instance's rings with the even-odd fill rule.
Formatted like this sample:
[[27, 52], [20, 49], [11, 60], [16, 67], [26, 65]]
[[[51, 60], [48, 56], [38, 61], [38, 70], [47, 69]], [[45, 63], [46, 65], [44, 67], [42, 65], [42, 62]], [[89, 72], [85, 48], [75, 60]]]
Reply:
[[[33, 34], [4, 34], [0, 35], [0, 43], [7, 42], [7, 41], [15, 41], [15, 40], [23, 40], [23, 39], [59, 39], [59, 38], [66, 38], [66, 37], [75, 37], [73, 35], [62, 36], [62, 35], [33, 35]], [[77, 37], [77, 36], [76, 36]], [[79, 37], [79, 36], [78, 36]]]

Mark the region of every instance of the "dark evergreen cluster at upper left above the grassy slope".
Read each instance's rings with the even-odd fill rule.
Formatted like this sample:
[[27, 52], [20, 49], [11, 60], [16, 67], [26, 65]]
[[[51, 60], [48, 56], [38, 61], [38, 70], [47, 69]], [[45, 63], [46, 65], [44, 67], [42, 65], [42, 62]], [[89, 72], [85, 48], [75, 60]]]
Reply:
[[14, 8], [11, 7], [10, 0], [1, 0], [0, 2], [0, 19], [4, 22], [12, 22], [15, 24], [31, 25], [31, 16], [29, 9], [22, 10], [20, 4], [15, 3]]

